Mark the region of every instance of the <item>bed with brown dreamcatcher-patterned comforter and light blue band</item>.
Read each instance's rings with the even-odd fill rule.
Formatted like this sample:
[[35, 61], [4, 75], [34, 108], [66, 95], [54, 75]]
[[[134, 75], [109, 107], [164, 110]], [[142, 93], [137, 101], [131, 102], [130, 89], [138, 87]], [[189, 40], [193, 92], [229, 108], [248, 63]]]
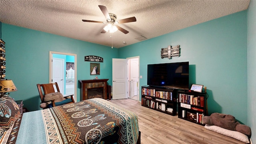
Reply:
[[1, 144], [140, 144], [137, 115], [102, 98], [23, 114], [13, 101], [0, 98]]

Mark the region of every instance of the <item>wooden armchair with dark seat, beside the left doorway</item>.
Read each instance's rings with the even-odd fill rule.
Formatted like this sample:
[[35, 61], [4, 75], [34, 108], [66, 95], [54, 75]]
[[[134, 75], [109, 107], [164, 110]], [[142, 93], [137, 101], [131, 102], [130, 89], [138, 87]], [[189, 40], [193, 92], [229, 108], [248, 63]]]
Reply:
[[[54, 86], [56, 86], [57, 92], [60, 92], [60, 89], [58, 87], [58, 83], [57, 82], [50, 83], [50, 84], [36, 84], [36, 85], [37, 85], [38, 92], [39, 92], [40, 99], [41, 99], [41, 103], [40, 104], [45, 103], [44, 96], [46, 94], [50, 94], [50, 93], [56, 92], [54, 90]], [[46, 102], [52, 102], [51, 104], [48, 104], [47, 108], [54, 107], [54, 106], [60, 106], [60, 105], [63, 105], [63, 104], [74, 103], [75, 101], [74, 101], [73, 96], [74, 95], [64, 96], [64, 98], [66, 98], [66, 100], [63, 100], [61, 102], [54, 102], [54, 100], [46, 101]], [[70, 97], [70, 98], [68, 98], [68, 97]]]

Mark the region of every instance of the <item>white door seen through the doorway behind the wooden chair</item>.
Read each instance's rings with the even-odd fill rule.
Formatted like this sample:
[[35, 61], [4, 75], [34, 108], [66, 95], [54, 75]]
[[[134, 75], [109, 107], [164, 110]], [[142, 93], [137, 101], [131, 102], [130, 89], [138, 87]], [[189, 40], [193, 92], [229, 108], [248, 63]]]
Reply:
[[60, 93], [64, 94], [64, 59], [52, 58], [52, 83], [57, 82]]

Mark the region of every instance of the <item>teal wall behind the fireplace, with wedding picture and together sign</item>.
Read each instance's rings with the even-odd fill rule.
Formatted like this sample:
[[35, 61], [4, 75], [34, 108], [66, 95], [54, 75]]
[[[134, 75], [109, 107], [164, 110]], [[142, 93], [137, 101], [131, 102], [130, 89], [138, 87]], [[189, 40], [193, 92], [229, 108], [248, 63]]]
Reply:
[[[24, 100], [29, 111], [40, 110], [36, 84], [49, 83], [49, 51], [77, 54], [77, 80], [95, 78], [90, 75], [90, 62], [85, 62], [84, 56], [104, 58], [98, 78], [107, 78], [112, 85], [112, 58], [118, 57], [116, 48], [4, 23], [2, 39], [6, 42], [6, 78], [12, 79], [18, 89], [10, 96]], [[77, 86], [77, 101], [80, 101], [79, 82]]]

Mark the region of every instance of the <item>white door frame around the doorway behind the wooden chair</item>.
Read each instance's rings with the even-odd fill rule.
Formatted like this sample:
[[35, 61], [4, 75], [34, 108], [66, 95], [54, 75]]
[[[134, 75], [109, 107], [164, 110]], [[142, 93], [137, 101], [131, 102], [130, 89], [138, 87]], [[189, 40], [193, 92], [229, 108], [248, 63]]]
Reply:
[[75, 78], [74, 78], [74, 101], [77, 102], [77, 61], [76, 61], [76, 54], [70, 54], [70, 53], [65, 53], [65, 52], [53, 52], [49, 51], [49, 83], [52, 83], [52, 54], [62, 54], [62, 55], [70, 55], [74, 56], [74, 66], [75, 66]]

